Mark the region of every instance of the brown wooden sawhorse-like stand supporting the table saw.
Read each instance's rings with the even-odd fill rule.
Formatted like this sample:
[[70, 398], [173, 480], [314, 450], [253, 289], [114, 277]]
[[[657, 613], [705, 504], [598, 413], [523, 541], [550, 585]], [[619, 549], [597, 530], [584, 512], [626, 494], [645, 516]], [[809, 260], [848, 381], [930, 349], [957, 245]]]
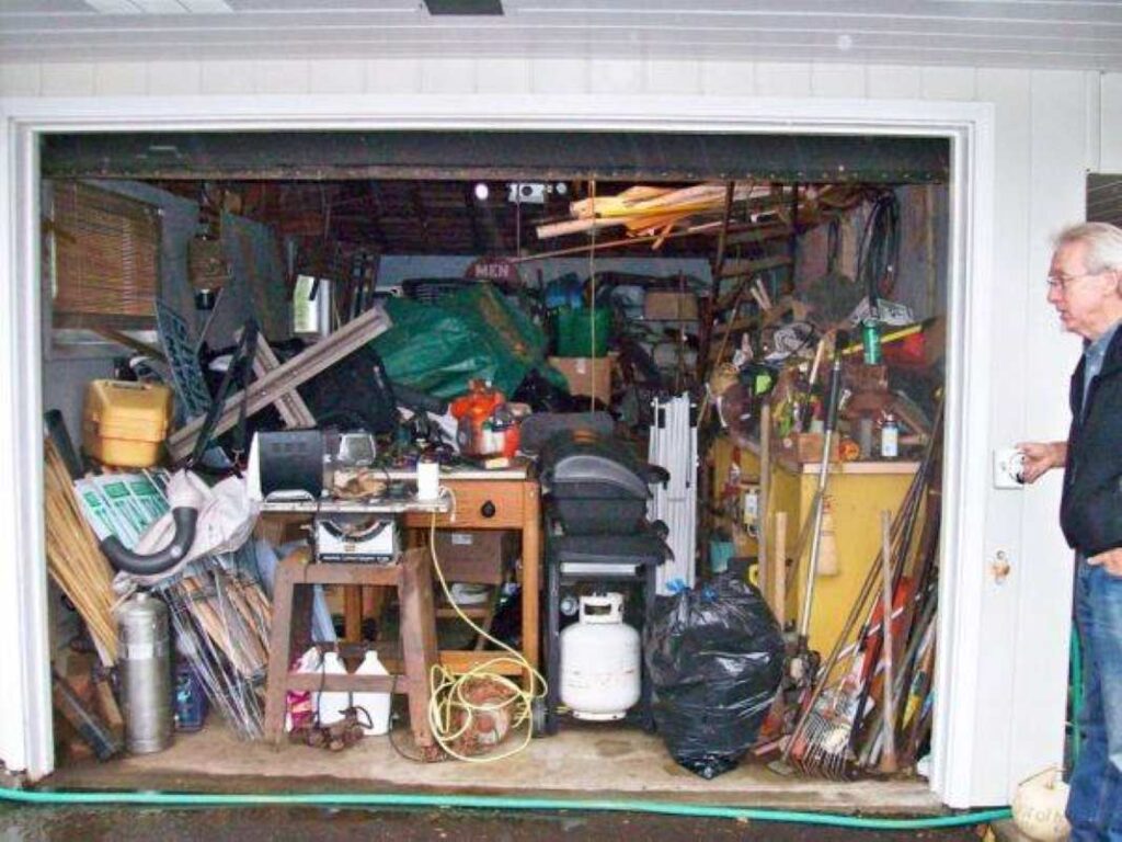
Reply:
[[[413, 739], [427, 756], [435, 754], [429, 727], [430, 675], [436, 663], [436, 621], [432, 576], [423, 549], [406, 550], [396, 565], [310, 564], [311, 550], [298, 549], [277, 565], [273, 588], [273, 630], [269, 676], [265, 694], [265, 739], [274, 744], [284, 734], [288, 690], [405, 693], [410, 697]], [[351, 676], [292, 672], [293, 652], [312, 644], [310, 585], [389, 585], [401, 604], [404, 675]]]

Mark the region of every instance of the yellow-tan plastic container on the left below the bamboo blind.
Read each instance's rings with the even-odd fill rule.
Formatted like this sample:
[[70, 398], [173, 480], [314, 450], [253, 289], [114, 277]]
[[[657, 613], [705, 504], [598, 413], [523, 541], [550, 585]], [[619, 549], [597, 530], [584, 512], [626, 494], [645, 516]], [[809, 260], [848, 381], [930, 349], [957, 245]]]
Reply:
[[82, 446], [104, 465], [148, 468], [172, 419], [172, 390], [155, 383], [93, 381], [85, 391]]

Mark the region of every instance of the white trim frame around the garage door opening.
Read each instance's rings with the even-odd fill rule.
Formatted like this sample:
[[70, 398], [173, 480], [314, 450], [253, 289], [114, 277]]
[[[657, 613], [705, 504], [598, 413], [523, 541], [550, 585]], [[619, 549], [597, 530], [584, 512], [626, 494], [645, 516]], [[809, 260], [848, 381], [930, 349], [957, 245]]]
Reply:
[[[598, 95], [183, 97], [0, 101], [0, 459], [22, 488], [0, 512], [0, 759], [38, 778], [53, 768], [42, 547], [37, 136], [44, 131], [555, 129], [892, 134], [949, 138], [953, 149], [947, 451], [931, 787], [949, 806], [976, 798], [977, 670], [1011, 655], [981, 640], [991, 377], [994, 113], [974, 102]], [[480, 115], [485, 115], [481, 117]], [[18, 244], [18, 248], [11, 246]], [[969, 360], [969, 364], [967, 364]], [[972, 423], [973, 420], [973, 423]], [[950, 505], [949, 502], [954, 502]], [[4, 528], [10, 524], [11, 528]], [[21, 560], [17, 564], [15, 560]], [[36, 561], [40, 560], [40, 561]], [[1006, 641], [1011, 648], [1014, 641]]]

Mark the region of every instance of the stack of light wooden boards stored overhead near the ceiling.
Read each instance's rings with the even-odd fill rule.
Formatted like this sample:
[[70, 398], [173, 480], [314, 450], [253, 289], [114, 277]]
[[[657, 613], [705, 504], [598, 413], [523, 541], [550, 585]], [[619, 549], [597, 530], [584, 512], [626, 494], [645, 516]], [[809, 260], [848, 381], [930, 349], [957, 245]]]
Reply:
[[[682, 189], [635, 185], [618, 195], [571, 202], [569, 216], [572, 219], [537, 226], [537, 237], [548, 239], [615, 227], [625, 228], [632, 237], [664, 236], [674, 228], [689, 226], [695, 217], [723, 213], [727, 193], [724, 184], [698, 184]], [[737, 185], [733, 191], [733, 202], [746, 202], [770, 194], [769, 185]]]

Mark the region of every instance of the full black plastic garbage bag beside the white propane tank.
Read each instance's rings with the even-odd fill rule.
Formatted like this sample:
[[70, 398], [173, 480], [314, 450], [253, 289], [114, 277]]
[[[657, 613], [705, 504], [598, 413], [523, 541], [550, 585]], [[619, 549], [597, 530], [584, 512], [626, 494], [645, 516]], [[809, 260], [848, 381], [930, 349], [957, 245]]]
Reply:
[[660, 598], [643, 651], [674, 760], [706, 779], [736, 768], [783, 676], [783, 637], [760, 591], [726, 574]]

